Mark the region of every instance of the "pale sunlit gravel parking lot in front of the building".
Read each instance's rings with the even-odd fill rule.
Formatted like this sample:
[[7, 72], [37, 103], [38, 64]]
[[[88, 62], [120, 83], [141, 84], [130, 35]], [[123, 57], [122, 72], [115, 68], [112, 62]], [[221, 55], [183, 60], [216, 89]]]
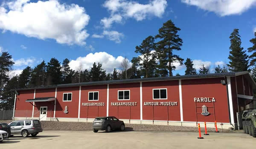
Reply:
[[0, 143], [1, 149], [241, 149], [256, 146], [256, 138], [244, 133], [210, 133], [197, 139], [196, 132], [55, 131], [46, 130], [36, 138], [14, 136]]

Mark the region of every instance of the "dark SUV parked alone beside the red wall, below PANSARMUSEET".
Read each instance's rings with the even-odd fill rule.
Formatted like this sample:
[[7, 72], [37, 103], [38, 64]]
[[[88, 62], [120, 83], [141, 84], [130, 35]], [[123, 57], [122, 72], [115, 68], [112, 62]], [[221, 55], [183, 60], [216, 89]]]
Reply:
[[125, 123], [116, 117], [96, 117], [93, 120], [93, 132], [98, 132], [99, 130], [106, 130], [106, 132], [111, 132], [113, 129], [125, 130]]

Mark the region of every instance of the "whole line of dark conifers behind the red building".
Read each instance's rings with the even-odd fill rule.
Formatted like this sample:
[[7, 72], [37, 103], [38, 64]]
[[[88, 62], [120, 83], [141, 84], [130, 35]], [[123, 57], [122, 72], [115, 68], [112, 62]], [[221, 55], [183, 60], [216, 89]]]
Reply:
[[[13, 108], [14, 92], [11, 92], [11, 90], [16, 88], [173, 76], [172, 71], [176, 69], [173, 63], [183, 65], [184, 61], [179, 55], [173, 53], [174, 51], [180, 51], [183, 44], [183, 40], [178, 34], [179, 31], [180, 28], [176, 27], [172, 20], [163, 23], [163, 26], [158, 30], [158, 34], [146, 37], [140, 45], [135, 47], [134, 52], [140, 54], [140, 56], [132, 58], [131, 67], [125, 57], [120, 66], [122, 70], [117, 71], [116, 68], [113, 68], [113, 72], [108, 74], [102, 68], [101, 63], [93, 63], [90, 70], [83, 70], [79, 66], [75, 71], [70, 69], [70, 60], [67, 58], [63, 60], [62, 64], [56, 58], [51, 58], [47, 64], [43, 60], [35, 68], [27, 66], [20, 75], [10, 78], [8, 73], [11, 71], [14, 62], [8, 52], [2, 52], [0, 56], [0, 109]], [[230, 54], [228, 59], [230, 61], [227, 65], [216, 66], [215, 73], [250, 71], [256, 80], [256, 32], [254, 35], [255, 37], [250, 40], [253, 46], [247, 49], [247, 52], [252, 54], [248, 56], [246, 50], [241, 47], [239, 29], [234, 29], [229, 37]], [[185, 75], [209, 73], [209, 68], [204, 64], [197, 71], [193, 67], [190, 58], [186, 59], [184, 65], [186, 66]]]

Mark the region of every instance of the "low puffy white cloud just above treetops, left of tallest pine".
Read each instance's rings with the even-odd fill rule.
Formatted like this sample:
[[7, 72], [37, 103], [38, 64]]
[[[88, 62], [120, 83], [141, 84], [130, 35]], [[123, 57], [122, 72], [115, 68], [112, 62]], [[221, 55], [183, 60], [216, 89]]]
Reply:
[[[77, 70], [81, 65], [82, 69], [90, 70], [94, 62], [96, 64], [101, 63], [102, 68], [108, 73], [113, 72], [114, 68], [120, 69], [124, 59], [122, 56], [113, 57], [113, 55], [106, 52], [96, 52], [94, 54], [87, 54], [85, 57], [78, 57], [76, 60], [71, 60], [69, 66], [71, 69]], [[129, 62], [129, 66], [131, 66], [131, 62]]]

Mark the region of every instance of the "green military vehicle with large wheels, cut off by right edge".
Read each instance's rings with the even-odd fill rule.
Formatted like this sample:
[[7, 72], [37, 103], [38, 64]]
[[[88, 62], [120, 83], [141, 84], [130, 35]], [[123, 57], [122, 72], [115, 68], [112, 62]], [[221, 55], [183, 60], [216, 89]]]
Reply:
[[255, 106], [248, 105], [247, 110], [243, 112], [242, 121], [244, 133], [247, 133], [256, 138], [256, 109]]

